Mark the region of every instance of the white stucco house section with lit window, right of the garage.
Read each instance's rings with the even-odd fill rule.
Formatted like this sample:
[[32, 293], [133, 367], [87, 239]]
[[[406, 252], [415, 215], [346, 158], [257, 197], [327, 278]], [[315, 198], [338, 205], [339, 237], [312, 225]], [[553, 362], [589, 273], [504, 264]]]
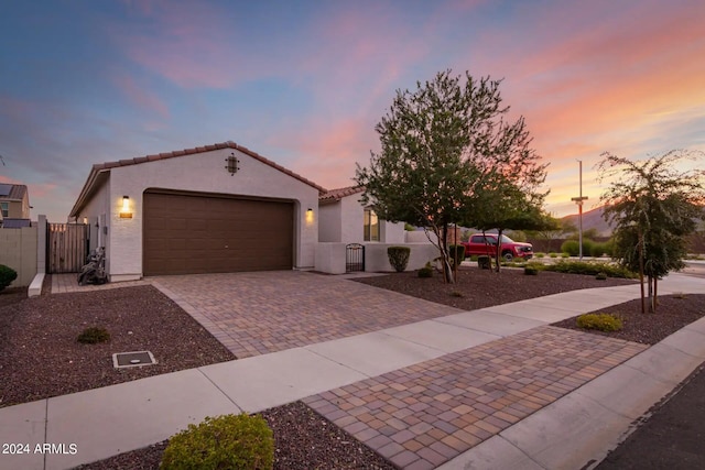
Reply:
[[318, 198], [318, 241], [341, 243], [404, 243], [404, 225], [379, 219], [373, 206], [364, 206], [365, 188], [330, 189]]

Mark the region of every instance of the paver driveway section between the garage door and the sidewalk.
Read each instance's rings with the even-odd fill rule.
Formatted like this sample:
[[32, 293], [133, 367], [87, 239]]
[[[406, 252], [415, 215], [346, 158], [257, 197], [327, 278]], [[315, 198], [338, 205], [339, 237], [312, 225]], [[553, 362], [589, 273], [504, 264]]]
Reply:
[[345, 278], [299, 271], [155, 276], [149, 281], [237, 358], [459, 311]]

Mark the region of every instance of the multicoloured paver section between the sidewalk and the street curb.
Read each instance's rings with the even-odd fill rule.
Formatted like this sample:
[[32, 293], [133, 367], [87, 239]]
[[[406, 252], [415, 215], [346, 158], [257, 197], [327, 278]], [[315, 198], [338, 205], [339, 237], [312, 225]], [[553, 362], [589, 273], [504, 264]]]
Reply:
[[304, 402], [397, 466], [431, 469], [647, 348], [543, 326]]

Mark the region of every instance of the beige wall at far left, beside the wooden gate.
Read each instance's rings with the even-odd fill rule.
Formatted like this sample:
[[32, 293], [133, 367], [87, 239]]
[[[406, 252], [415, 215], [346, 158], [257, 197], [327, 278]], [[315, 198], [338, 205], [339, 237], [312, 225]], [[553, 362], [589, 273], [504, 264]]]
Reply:
[[24, 287], [36, 274], [36, 223], [21, 229], [0, 229], [0, 264], [12, 267], [18, 278], [10, 287]]

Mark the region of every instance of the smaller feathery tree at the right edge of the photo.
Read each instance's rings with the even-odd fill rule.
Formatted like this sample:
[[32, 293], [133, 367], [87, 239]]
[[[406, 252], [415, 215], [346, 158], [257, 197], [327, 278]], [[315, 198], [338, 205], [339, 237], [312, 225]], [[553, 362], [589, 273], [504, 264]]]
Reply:
[[[658, 280], [684, 266], [686, 236], [703, 217], [705, 171], [676, 170], [702, 152], [670, 151], [643, 161], [604, 153], [600, 181], [610, 179], [601, 195], [605, 220], [615, 226], [615, 258], [641, 278], [641, 310], [646, 311], [643, 277], [648, 278], [649, 309], [657, 309]], [[686, 165], [685, 165], [686, 166]]]

